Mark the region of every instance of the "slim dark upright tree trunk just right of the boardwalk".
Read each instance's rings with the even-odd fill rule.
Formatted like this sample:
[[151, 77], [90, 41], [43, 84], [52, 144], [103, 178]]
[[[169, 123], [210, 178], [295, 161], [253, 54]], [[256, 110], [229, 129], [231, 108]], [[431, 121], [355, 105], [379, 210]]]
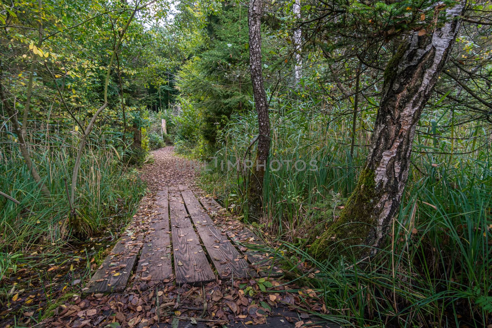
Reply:
[[253, 164], [248, 185], [248, 216], [257, 220], [262, 213], [263, 179], [270, 153], [270, 119], [268, 117], [268, 103], [261, 66], [261, 14], [262, 0], [251, 0], [248, 10], [249, 26], [249, 68], [251, 70], [251, 83], [253, 95], [258, 113], [258, 149], [256, 161]]

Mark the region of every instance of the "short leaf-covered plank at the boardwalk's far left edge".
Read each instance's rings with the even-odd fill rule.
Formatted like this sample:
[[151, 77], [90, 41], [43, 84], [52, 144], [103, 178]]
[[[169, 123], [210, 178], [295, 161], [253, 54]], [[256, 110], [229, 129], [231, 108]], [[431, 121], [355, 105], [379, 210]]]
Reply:
[[[132, 239], [134, 238], [134, 239]], [[84, 293], [107, 293], [124, 290], [140, 248], [141, 235], [120, 239], [94, 273]]]

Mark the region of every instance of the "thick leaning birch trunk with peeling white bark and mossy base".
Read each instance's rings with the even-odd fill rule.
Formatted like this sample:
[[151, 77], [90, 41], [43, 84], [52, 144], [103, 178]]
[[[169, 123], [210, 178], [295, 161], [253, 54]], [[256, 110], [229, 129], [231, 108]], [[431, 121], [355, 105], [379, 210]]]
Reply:
[[453, 48], [463, 8], [464, 0], [446, 9], [448, 21], [433, 33], [409, 35], [388, 62], [366, 166], [338, 220], [312, 244], [316, 258], [330, 251], [363, 258], [382, 246], [400, 207], [415, 128]]

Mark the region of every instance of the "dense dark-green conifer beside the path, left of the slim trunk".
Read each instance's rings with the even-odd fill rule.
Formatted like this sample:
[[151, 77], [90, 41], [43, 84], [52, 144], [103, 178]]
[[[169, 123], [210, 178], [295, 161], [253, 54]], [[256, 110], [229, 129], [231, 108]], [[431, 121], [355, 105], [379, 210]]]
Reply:
[[247, 12], [241, 5], [226, 6], [209, 20], [208, 49], [187, 61], [179, 73], [179, 89], [202, 113], [201, 133], [215, 143], [217, 131], [231, 114], [250, 107]]

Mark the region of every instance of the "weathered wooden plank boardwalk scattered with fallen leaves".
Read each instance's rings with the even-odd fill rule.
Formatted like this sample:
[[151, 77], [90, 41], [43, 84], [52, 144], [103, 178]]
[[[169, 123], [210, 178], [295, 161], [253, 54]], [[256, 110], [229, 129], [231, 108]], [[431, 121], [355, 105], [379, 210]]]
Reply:
[[214, 200], [197, 198], [184, 185], [164, 188], [156, 196], [158, 208], [148, 230], [118, 241], [86, 293], [121, 291], [132, 272], [135, 282], [160, 283], [175, 277], [179, 285], [279, 275], [271, 260], [245, 247], [264, 245], [251, 231], [215, 226], [209, 213], [223, 209]]

